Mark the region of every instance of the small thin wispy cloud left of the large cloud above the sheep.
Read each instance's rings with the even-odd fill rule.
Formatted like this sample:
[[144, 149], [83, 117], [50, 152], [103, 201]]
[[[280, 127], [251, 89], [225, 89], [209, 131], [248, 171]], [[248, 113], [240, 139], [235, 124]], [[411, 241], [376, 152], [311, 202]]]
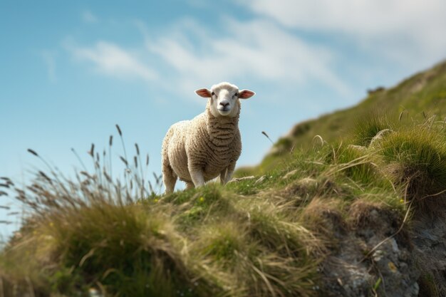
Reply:
[[82, 47], [66, 41], [64, 46], [79, 61], [93, 63], [100, 73], [146, 81], [157, 78], [157, 73], [145, 66], [138, 55], [113, 43], [98, 41], [94, 46]]

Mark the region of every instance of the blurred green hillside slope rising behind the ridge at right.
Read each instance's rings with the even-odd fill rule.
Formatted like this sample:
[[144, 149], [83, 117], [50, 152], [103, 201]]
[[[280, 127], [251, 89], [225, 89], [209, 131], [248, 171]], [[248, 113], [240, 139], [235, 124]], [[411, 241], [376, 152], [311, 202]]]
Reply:
[[[316, 135], [328, 142], [346, 140], [355, 132], [358, 121], [375, 115], [387, 115], [390, 122], [398, 119], [422, 121], [431, 116], [437, 121], [445, 120], [446, 61], [403, 80], [393, 88], [369, 90], [368, 97], [352, 108], [296, 124], [276, 142], [260, 168], [274, 167], [274, 160], [279, 160], [275, 157], [289, 150], [311, 147]], [[251, 170], [242, 168], [238, 174], [249, 175]]]

